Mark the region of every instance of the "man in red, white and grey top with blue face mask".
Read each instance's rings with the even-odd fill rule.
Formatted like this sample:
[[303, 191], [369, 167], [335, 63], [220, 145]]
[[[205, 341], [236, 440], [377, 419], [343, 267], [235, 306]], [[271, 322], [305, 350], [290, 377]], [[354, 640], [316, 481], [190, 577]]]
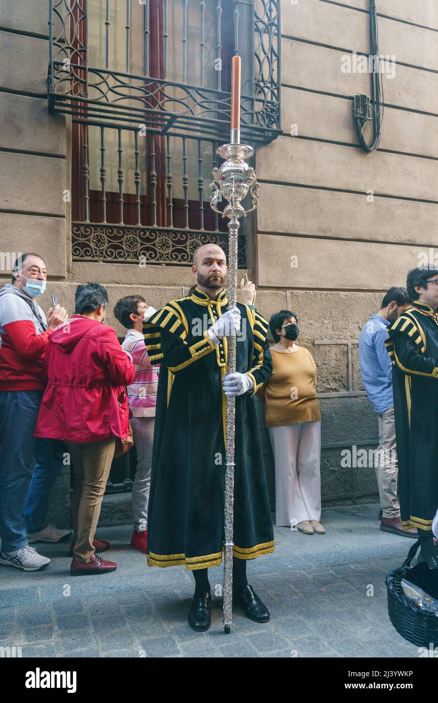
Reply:
[[52, 460], [52, 442], [34, 439], [49, 335], [67, 315], [56, 305], [46, 318], [35, 302], [46, 278], [46, 264], [38, 254], [21, 254], [12, 283], [0, 290], [0, 564], [23, 571], [38, 571], [50, 562], [30, 542], [57, 542], [70, 534], [46, 522], [60, 465]]

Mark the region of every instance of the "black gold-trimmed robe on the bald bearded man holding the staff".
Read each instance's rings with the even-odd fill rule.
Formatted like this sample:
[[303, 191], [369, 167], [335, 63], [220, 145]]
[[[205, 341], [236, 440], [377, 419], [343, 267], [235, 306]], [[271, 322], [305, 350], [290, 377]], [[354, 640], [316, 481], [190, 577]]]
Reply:
[[[148, 565], [203, 569], [221, 563], [224, 541], [227, 340], [214, 347], [210, 324], [227, 309], [195, 288], [143, 325], [150, 361], [160, 363], [148, 504]], [[236, 370], [253, 389], [236, 397], [233, 555], [273, 551], [273, 527], [252, 396], [272, 372], [268, 323], [238, 303]]]

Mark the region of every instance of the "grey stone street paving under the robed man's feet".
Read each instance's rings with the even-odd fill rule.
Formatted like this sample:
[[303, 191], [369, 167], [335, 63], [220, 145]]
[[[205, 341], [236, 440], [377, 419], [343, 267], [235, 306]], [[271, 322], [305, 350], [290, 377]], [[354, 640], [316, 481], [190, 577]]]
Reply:
[[[271, 612], [256, 624], [236, 607], [221, 622], [222, 567], [210, 569], [212, 626], [187, 624], [193, 576], [148, 568], [129, 547], [131, 527], [99, 529], [116, 572], [70, 576], [69, 541], [38, 543], [42, 572], [0, 566], [0, 646], [22, 657], [418, 657], [387, 614], [385, 574], [413, 541], [380, 531], [378, 505], [323, 510], [327, 534], [276, 527], [276, 550], [248, 562], [248, 580]], [[370, 595], [373, 593], [373, 595]]]

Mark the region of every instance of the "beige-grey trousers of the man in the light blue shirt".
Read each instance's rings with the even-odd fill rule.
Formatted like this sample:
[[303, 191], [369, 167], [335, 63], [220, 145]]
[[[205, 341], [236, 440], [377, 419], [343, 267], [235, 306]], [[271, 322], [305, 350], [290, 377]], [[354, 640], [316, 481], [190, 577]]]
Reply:
[[375, 476], [380, 495], [380, 508], [383, 517], [400, 517], [397, 498], [397, 445], [395, 441], [394, 406], [378, 413], [379, 446], [375, 461]]

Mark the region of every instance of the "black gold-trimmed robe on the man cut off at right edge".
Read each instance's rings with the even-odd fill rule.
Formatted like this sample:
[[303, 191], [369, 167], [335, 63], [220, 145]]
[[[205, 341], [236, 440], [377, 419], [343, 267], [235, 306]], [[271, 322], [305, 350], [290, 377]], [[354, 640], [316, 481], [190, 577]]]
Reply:
[[438, 508], [438, 316], [416, 301], [388, 334], [401, 522], [431, 530]]

